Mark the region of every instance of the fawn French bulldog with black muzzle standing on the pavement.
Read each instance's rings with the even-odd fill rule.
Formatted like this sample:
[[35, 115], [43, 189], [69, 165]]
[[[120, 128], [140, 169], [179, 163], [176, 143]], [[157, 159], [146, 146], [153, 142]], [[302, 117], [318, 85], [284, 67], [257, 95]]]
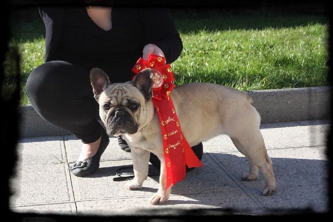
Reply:
[[[134, 178], [126, 183], [126, 188], [142, 187], [151, 152], [160, 159], [159, 189], [150, 200], [151, 205], [159, 205], [167, 202], [173, 185], [166, 189], [161, 126], [152, 102], [153, 74], [153, 69], [146, 68], [132, 81], [111, 83], [103, 70], [92, 68], [90, 82], [106, 132], [121, 135], [131, 148]], [[246, 92], [213, 83], [190, 83], [175, 86], [170, 97], [190, 146], [227, 134], [249, 160], [250, 172], [242, 180], [256, 180], [260, 170], [265, 180], [262, 195], [275, 194], [272, 161], [259, 128], [260, 115]]]

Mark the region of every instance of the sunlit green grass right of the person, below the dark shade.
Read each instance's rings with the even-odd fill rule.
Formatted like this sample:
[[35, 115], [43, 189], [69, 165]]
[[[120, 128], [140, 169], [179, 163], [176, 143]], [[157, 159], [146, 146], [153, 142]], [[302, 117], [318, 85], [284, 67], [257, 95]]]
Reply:
[[326, 25], [309, 24], [182, 34], [184, 50], [172, 65], [176, 82], [246, 91], [327, 85], [326, 32]]

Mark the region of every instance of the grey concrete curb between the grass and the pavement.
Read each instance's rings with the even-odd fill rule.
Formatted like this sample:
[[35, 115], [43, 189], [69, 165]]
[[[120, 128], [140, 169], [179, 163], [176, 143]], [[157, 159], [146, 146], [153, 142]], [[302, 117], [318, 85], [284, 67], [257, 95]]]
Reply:
[[[331, 119], [332, 87], [248, 91], [262, 123]], [[19, 107], [22, 138], [64, 136], [62, 130], [39, 116], [31, 105]]]

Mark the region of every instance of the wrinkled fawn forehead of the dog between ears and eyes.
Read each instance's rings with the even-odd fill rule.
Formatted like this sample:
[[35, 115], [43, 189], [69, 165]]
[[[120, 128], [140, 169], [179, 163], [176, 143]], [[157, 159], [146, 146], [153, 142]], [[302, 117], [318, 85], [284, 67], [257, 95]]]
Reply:
[[110, 102], [112, 106], [127, 106], [133, 100], [144, 100], [140, 90], [130, 83], [114, 83], [100, 95], [99, 103]]

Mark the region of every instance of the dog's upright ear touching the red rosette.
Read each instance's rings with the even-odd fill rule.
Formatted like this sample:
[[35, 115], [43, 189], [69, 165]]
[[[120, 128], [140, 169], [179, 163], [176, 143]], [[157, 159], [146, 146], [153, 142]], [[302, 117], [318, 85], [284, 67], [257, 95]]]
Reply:
[[153, 97], [153, 74], [152, 69], [146, 68], [132, 80], [132, 85], [142, 92], [146, 100], [150, 100]]

